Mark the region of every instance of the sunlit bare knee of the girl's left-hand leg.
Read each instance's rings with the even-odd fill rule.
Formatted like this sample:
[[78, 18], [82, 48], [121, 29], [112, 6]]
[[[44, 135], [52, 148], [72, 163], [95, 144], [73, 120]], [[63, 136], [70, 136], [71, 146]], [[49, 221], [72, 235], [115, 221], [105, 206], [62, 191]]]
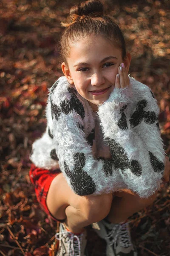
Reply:
[[89, 224], [101, 221], [109, 214], [112, 199], [112, 193], [86, 197], [83, 214], [85, 214]]

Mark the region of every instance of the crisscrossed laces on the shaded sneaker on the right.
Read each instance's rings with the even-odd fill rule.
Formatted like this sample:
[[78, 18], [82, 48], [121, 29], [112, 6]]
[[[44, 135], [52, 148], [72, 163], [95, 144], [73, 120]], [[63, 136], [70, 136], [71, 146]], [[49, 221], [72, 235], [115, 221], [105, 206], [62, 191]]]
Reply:
[[127, 231], [127, 223], [125, 224], [115, 224], [112, 230], [106, 236], [106, 239], [111, 240], [110, 245], [114, 244], [116, 247], [116, 242], [118, 238], [120, 239], [120, 244], [122, 247], [129, 247], [131, 245], [129, 233]]

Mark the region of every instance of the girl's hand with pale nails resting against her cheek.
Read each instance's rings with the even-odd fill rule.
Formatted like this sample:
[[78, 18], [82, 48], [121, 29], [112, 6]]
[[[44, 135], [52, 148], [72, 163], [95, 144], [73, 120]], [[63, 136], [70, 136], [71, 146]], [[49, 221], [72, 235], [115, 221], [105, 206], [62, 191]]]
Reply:
[[125, 88], [129, 85], [129, 77], [127, 75], [127, 70], [124, 63], [121, 63], [118, 67], [118, 74], [115, 78], [115, 88]]

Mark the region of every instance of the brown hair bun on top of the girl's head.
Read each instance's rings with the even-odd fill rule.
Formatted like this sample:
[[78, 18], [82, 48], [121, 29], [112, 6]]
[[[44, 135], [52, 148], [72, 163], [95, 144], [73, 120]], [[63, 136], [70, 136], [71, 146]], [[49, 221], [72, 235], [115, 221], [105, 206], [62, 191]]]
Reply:
[[70, 10], [70, 16], [103, 16], [103, 3], [99, 0], [88, 0], [73, 6]]

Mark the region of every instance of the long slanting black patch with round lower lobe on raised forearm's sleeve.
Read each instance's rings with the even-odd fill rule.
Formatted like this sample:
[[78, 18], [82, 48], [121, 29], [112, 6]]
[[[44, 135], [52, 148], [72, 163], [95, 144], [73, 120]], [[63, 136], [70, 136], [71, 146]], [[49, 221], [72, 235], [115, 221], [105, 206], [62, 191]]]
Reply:
[[115, 140], [108, 139], [108, 143], [111, 150], [112, 162], [114, 169], [121, 169], [122, 172], [125, 169], [130, 169], [136, 176], [142, 175], [142, 166], [136, 160], [129, 160], [124, 148]]

